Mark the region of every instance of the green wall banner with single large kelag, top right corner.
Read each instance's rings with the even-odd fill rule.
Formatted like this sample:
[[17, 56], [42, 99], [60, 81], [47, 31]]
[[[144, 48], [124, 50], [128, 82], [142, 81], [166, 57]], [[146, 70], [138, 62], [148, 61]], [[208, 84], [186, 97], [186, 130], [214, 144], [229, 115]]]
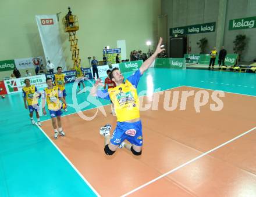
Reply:
[[229, 20], [229, 30], [241, 30], [256, 27], [256, 16]]

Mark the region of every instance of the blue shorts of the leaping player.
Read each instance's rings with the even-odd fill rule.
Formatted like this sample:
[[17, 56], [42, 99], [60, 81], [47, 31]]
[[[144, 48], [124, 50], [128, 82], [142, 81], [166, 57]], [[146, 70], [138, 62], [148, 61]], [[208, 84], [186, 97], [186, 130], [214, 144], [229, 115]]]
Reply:
[[142, 146], [142, 125], [141, 121], [138, 122], [118, 122], [116, 129], [113, 132], [111, 143], [113, 145], [119, 145], [124, 140], [129, 141], [131, 144]]

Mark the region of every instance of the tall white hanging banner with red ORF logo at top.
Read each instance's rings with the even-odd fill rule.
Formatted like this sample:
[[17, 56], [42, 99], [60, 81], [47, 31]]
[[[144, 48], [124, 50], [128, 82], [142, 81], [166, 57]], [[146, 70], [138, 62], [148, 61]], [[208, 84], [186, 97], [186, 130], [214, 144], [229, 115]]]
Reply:
[[66, 62], [63, 56], [61, 34], [59, 32], [59, 23], [56, 14], [37, 15], [35, 16], [35, 20], [37, 21], [46, 61], [50, 60], [55, 65], [55, 72], [58, 66], [61, 66], [62, 70], [66, 71]]

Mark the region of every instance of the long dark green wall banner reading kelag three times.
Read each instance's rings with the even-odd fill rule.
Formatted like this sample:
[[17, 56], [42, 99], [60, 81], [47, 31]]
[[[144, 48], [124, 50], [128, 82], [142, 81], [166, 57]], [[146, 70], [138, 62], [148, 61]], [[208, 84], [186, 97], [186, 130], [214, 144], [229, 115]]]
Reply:
[[187, 35], [187, 34], [202, 34], [207, 32], [215, 32], [216, 23], [195, 24], [184, 27], [170, 28], [170, 36]]

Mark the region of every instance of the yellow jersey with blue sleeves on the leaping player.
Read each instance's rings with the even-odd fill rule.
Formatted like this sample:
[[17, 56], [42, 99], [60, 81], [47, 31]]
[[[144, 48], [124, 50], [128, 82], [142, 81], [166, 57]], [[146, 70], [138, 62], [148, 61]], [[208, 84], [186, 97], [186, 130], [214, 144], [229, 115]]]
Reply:
[[97, 91], [98, 97], [113, 102], [118, 122], [140, 118], [140, 101], [136, 89], [140, 77], [141, 73], [138, 70], [121, 85], [109, 88], [108, 90]]

